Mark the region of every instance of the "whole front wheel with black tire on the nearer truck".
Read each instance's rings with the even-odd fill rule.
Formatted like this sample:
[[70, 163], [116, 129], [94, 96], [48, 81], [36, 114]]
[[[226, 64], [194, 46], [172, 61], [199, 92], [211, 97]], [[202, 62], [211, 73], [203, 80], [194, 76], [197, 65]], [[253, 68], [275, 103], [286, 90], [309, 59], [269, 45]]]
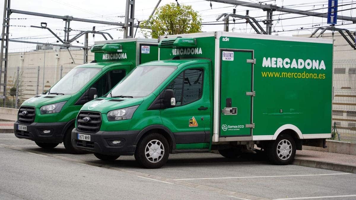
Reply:
[[[154, 147], [150, 148], [152, 146]], [[167, 162], [168, 157], [168, 141], [159, 133], [150, 133], [137, 144], [135, 159], [144, 168], [160, 168]]]

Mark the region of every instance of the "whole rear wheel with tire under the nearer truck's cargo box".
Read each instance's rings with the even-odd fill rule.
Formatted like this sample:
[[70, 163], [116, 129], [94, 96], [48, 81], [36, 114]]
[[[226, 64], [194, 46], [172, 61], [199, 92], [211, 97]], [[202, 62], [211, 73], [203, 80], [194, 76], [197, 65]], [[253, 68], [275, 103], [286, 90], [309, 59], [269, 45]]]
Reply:
[[268, 145], [266, 153], [271, 163], [287, 165], [293, 162], [296, 149], [295, 141], [291, 136], [280, 135]]

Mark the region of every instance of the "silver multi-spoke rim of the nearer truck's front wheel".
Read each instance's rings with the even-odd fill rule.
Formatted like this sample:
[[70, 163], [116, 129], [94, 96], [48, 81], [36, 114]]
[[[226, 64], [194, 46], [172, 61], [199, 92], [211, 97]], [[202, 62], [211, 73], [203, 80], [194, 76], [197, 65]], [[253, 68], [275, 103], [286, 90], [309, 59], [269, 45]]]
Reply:
[[164, 156], [164, 146], [159, 140], [151, 140], [145, 148], [146, 159], [151, 163], [158, 163]]

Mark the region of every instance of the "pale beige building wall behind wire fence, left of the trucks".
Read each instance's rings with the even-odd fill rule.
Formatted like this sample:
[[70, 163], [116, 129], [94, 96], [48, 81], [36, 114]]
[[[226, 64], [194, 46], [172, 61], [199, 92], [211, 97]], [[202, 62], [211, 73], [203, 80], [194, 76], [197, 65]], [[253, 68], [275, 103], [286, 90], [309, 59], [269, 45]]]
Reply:
[[[81, 49], [37, 50], [9, 53], [6, 99], [5, 104], [0, 99], [1, 107], [19, 107], [26, 99], [47, 91], [71, 69], [83, 63]], [[94, 54], [89, 52], [88, 59], [89, 62], [93, 60]]]

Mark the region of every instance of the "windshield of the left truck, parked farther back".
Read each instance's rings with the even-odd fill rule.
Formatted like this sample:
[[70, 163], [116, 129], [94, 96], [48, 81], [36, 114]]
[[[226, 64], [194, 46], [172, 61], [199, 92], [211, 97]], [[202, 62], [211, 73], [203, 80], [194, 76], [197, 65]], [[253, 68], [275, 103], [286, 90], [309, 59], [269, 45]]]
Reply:
[[74, 94], [87, 84], [100, 68], [74, 68], [49, 90], [50, 94]]

